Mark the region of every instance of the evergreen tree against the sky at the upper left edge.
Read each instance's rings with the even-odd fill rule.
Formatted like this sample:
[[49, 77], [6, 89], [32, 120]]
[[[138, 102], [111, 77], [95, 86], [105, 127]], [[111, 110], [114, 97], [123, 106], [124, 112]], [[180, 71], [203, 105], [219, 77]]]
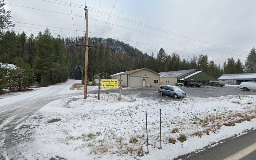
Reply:
[[4, 29], [14, 27], [15, 24], [12, 24], [11, 21], [11, 11], [6, 11], [4, 9], [4, 0], [0, 0], [0, 39], [2, 39], [4, 34]]

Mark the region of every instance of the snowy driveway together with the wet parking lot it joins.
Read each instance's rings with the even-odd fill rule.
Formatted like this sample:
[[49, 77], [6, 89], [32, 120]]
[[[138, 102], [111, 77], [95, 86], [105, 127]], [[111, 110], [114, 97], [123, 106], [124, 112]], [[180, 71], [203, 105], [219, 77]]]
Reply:
[[[19, 157], [19, 152], [16, 144], [19, 140], [15, 139], [15, 127], [32, 116], [36, 111], [42, 108], [47, 103], [61, 98], [67, 98], [76, 95], [83, 95], [83, 90], [70, 91], [69, 88], [74, 80], [69, 80], [66, 83], [56, 84], [40, 89], [40, 92], [35, 89], [33, 92], [24, 93], [18, 96], [4, 98], [0, 100], [0, 159], [7, 157], [8, 159], [22, 159]], [[216, 97], [224, 95], [255, 95], [256, 91], [243, 91], [234, 86], [224, 87], [181, 87], [187, 92], [186, 99], [197, 99], [203, 97]], [[42, 92], [42, 90], [44, 92]], [[158, 87], [144, 88], [126, 88], [121, 90], [124, 96], [139, 97], [156, 101], [173, 101], [178, 100], [170, 96], [161, 96], [158, 92]], [[119, 90], [100, 90], [101, 93], [115, 92]], [[98, 91], [88, 91], [87, 94], [97, 94]]]

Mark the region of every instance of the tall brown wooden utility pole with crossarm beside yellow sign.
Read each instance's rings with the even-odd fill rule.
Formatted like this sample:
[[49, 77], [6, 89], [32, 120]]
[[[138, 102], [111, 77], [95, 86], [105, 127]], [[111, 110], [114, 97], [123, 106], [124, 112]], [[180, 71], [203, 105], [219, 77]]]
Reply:
[[[88, 69], [88, 49], [89, 48], [97, 48], [97, 46], [88, 45], [88, 10], [85, 6], [85, 20], [86, 20], [86, 32], [85, 32], [85, 45], [84, 44], [76, 44], [77, 46], [85, 47], [85, 64], [84, 64], [84, 99], [87, 98], [87, 69]], [[88, 48], [89, 47], [89, 48]]]

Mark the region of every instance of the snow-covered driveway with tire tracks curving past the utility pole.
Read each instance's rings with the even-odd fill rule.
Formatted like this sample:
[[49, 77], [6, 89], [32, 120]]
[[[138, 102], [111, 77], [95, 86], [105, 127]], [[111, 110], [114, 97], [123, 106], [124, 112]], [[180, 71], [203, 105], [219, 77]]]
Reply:
[[33, 92], [0, 100], [0, 159], [24, 159], [19, 157], [16, 148], [16, 144], [20, 142], [15, 140], [15, 127], [47, 103], [60, 98], [82, 95], [84, 91], [70, 92], [69, 88], [73, 81], [69, 80], [63, 84], [41, 88], [40, 91], [35, 89]]

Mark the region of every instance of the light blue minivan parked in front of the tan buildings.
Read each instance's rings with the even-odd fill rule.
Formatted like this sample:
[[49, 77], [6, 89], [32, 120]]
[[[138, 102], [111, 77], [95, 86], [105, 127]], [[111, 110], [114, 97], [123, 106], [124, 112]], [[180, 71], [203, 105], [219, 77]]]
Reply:
[[158, 88], [158, 92], [160, 95], [169, 95], [174, 98], [185, 98], [187, 97], [187, 93], [182, 91], [179, 87], [172, 85], [162, 85]]

